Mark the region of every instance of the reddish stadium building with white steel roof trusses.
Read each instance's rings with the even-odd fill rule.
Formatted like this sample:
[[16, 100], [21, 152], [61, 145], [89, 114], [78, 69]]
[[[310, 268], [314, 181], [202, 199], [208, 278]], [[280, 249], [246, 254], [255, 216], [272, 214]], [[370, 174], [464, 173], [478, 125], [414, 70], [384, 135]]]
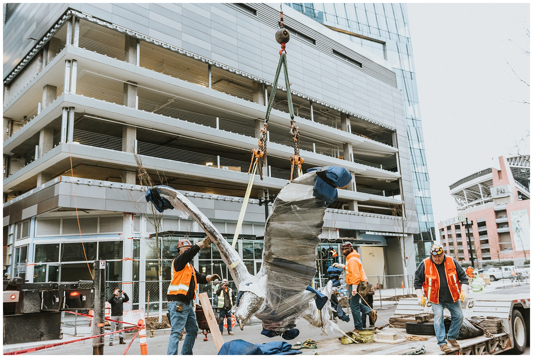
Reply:
[[529, 155], [493, 158], [490, 168], [450, 185], [457, 205], [455, 218], [439, 222], [447, 254], [470, 262], [469, 233], [475, 261], [529, 260]]

